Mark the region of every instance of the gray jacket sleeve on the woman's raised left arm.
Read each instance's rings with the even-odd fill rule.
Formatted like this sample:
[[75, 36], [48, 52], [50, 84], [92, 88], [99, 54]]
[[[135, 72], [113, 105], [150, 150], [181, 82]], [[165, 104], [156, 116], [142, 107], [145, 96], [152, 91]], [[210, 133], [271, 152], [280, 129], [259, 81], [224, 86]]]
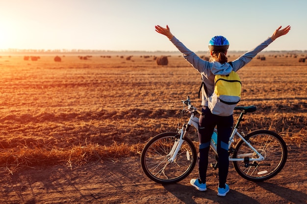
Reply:
[[[206, 73], [210, 71], [209, 62], [201, 59], [194, 52], [189, 50], [185, 45], [183, 45], [175, 36], [170, 40], [178, 50], [183, 54], [183, 57], [188, 61], [195, 69], [200, 73]], [[207, 75], [207, 74], [206, 74]]]

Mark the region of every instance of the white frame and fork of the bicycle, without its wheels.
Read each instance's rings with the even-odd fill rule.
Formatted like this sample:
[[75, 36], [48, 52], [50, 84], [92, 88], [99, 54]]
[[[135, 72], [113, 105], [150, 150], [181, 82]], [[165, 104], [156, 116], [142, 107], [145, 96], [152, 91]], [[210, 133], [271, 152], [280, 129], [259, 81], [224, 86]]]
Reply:
[[[188, 109], [190, 109], [190, 107]], [[186, 110], [186, 111], [189, 111], [191, 113], [191, 116], [190, 116], [190, 119], [189, 119], [187, 125], [193, 126], [194, 128], [196, 128], [196, 130], [198, 130], [199, 118], [196, 117], [195, 113], [194, 113], [196, 111], [196, 109], [194, 109], [194, 111], [190, 111], [190, 110]], [[217, 130], [214, 129], [214, 132], [216, 132], [216, 131]], [[184, 138], [184, 136], [187, 133], [184, 125], [179, 130], [179, 133], [180, 133], [179, 139], [175, 140], [175, 143], [174, 143], [174, 145], [172, 147], [171, 152], [167, 155], [167, 157], [169, 158], [168, 159], [169, 162], [174, 162], [175, 161], [176, 156], [177, 156], [177, 154], [178, 154], [178, 152], [179, 152], [179, 150], [181, 148], [181, 145], [182, 145], [182, 143], [184, 141], [183, 138]], [[258, 153], [258, 151], [243, 136], [241, 136], [238, 133], [238, 129], [237, 128], [234, 128], [232, 130], [232, 133], [231, 133], [231, 136], [230, 136], [230, 139], [229, 139], [229, 146], [228, 146], [229, 149], [231, 147], [232, 142], [234, 142], [233, 138], [234, 138], [235, 135], [239, 136], [253, 150], [253, 152], [249, 153], [249, 154], [237, 155], [236, 156], [237, 158], [232, 158], [232, 156], [229, 156], [229, 160], [230, 161], [244, 161], [245, 157], [249, 157], [250, 161], [262, 161], [262, 160], [264, 160], [264, 157], [260, 153]], [[212, 139], [211, 139], [211, 142], [210, 142], [210, 147], [214, 151], [214, 153], [217, 154], [217, 148], [216, 148], [216, 145], [213, 143]], [[258, 156], [258, 158], [255, 158], [256, 155]], [[188, 153], [187, 153], [187, 158], [189, 159]]]

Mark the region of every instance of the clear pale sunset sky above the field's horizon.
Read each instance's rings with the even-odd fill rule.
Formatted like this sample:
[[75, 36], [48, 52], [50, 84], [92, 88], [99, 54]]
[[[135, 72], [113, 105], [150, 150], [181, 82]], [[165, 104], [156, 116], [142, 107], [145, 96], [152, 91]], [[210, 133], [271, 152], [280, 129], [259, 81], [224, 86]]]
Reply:
[[189, 49], [223, 35], [249, 50], [282, 25], [266, 50], [307, 50], [307, 0], [0, 0], [0, 49], [176, 51], [154, 25]]

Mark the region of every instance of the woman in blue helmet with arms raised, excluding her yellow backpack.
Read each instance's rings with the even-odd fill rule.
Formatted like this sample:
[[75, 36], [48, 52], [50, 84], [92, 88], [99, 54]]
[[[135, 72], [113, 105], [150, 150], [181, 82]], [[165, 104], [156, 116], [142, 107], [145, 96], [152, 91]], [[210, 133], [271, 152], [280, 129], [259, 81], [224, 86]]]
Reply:
[[[212, 108], [208, 108], [208, 101], [210, 102], [210, 96], [214, 91], [214, 77], [216, 74], [228, 75], [232, 70], [237, 71], [249, 63], [257, 53], [270, 45], [278, 37], [285, 35], [289, 32], [290, 26], [286, 26], [281, 29], [281, 26], [275, 30], [273, 35], [265, 40], [260, 45], [256, 46], [253, 50], [243, 54], [236, 60], [228, 63], [227, 50], [229, 47], [228, 40], [223, 36], [215, 36], [209, 41], [209, 50], [211, 59], [205, 61], [197, 56], [194, 52], [189, 50], [183, 45], [170, 31], [168, 25], [166, 28], [156, 25], [155, 31], [165, 35], [168, 39], [179, 49], [183, 54], [183, 57], [202, 75], [203, 82], [205, 83], [205, 89], [202, 89], [202, 112], [203, 114], [199, 119], [198, 135], [199, 135], [199, 154], [198, 154], [198, 169], [199, 178], [192, 179], [190, 183], [200, 191], [206, 190], [206, 171], [208, 166], [208, 152], [210, 148], [210, 139], [214, 131], [214, 127], [217, 128], [217, 152], [218, 152], [218, 164], [219, 164], [219, 185], [218, 196], [226, 196], [230, 191], [229, 185], [226, 184], [228, 168], [229, 168], [229, 155], [228, 155], [228, 142], [232, 131], [233, 108], [225, 114], [213, 114]], [[212, 105], [211, 105], [212, 106]], [[219, 107], [215, 107], [219, 108]]]

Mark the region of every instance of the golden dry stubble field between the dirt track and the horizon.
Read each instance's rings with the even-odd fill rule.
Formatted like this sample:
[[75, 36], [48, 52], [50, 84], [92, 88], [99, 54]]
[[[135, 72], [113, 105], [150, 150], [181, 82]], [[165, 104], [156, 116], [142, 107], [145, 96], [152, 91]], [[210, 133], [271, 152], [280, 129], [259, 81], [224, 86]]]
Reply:
[[[0, 58], [0, 171], [137, 155], [146, 141], [176, 131], [190, 96], [200, 106], [199, 73], [181, 56]], [[229, 56], [234, 60], [237, 56]], [[306, 141], [307, 62], [267, 55], [239, 70], [240, 106], [256, 105], [242, 131], [269, 129], [287, 143]], [[193, 135], [193, 133], [192, 133]]]

